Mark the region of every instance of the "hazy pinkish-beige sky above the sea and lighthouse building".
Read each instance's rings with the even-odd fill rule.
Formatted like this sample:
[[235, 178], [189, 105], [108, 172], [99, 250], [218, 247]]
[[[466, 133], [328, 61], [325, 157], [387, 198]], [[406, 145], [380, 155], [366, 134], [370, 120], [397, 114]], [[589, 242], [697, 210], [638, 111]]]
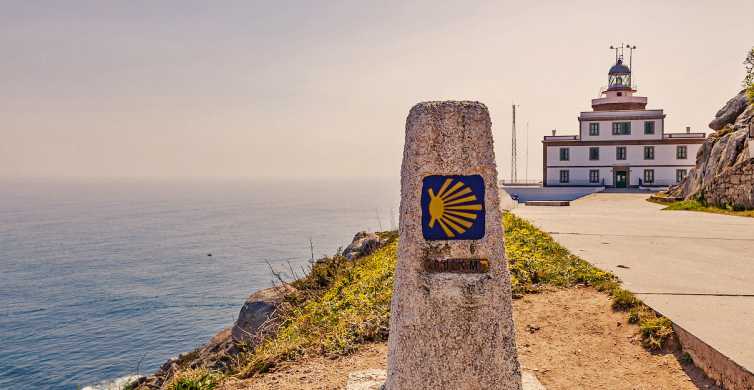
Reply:
[[[419, 101], [575, 132], [630, 42], [666, 127], [740, 89], [754, 1], [0, 1], [0, 176], [394, 177]], [[525, 138], [519, 140], [524, 176]]]

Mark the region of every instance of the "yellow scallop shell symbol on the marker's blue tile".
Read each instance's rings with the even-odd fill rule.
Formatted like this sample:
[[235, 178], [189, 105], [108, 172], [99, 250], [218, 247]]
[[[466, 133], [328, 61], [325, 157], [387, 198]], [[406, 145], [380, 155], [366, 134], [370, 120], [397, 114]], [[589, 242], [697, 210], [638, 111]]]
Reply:
[[440, 225], [449, 238], [463, 234], [474, 226], [482, 210], [482, 204], [471, 188], [460, 180], [453, 183], [452, 178], [446, 179], [437, 194], [432, 188], [428, 189], [428, 194], [429, 227]]

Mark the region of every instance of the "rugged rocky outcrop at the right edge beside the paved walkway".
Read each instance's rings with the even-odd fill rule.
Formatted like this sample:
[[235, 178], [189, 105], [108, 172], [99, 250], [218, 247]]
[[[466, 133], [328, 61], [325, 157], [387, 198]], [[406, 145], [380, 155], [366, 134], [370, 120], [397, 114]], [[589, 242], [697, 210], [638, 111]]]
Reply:
[[715, 130], [696, 155], [696, 166], [667, 195], [718, 207], [754, 209], [754, 104], [743, 90], [710, 122]]

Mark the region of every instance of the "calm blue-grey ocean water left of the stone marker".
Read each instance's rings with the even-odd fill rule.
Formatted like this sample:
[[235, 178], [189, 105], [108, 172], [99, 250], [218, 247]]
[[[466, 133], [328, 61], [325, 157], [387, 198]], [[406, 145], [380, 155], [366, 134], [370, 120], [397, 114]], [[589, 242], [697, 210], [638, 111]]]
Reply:
[[[395, 227], [396, 180], [0, 181], [0, 389], [105, 388], [234, 321], [278, 271]], [[208, 254], [212, 256], [208, 256]]]

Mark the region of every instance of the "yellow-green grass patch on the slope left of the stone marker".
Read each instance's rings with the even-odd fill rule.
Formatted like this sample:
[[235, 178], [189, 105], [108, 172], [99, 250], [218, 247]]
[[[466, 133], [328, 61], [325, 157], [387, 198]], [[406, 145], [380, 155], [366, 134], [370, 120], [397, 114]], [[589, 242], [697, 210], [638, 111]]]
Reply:
[[[397, 240], [394, 238], [375, 253], [341, 267], [332, 273], [332, 281], [310, 285], [325, 287], [285, 313], [277, 335], [268, 339], [247, 356], [242, 377], [265, 372], [276, 364], [309, 353], [339, 355], [354, 350], [358, 344], [387, 339], [390, 299], [393, 290]], [[332, 270], [326, 263], [321, 267]]]

